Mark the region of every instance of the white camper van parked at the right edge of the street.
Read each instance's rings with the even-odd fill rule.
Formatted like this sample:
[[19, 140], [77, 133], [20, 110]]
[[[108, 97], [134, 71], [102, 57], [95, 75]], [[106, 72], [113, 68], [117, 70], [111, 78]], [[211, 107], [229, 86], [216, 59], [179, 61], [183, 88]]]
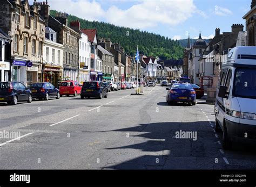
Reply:
[[235, 47], [221, 67], [215, 102], [215, 131], [223, 148], [234, 142], [256, 145], [256, 47]]

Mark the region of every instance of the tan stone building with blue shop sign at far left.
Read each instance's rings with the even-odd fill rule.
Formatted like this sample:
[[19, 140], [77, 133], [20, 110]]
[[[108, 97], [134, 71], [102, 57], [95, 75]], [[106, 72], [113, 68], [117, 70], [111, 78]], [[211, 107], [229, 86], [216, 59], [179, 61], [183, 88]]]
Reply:
[[11, 80], [25, 85], [42, 80], [45, 21], [38, 4], [5, 0], [0, 6], [0, 27], [11, 37]]

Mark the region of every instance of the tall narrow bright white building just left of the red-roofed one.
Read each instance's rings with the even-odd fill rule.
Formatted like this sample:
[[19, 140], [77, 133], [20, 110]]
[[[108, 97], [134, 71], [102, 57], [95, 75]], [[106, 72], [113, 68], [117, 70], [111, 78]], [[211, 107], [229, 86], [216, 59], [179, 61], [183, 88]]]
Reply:
[[84, 81], [90, 80], [91, 69], [91, 42], [88, 36], [81, 33], [79, 40], [79, 78], [78, 81], [82, 84]]

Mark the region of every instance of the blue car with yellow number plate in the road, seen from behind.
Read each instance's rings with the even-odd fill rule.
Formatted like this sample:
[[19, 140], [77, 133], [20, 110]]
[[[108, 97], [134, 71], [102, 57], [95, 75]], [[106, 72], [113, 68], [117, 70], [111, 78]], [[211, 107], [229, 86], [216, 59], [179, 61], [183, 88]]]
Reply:
[[171, 105], [174, 102], [189, 103], [196, 105], [196, 91], [194, 91], [191, 84], [175, 83], [168, 90], [166, 102]]

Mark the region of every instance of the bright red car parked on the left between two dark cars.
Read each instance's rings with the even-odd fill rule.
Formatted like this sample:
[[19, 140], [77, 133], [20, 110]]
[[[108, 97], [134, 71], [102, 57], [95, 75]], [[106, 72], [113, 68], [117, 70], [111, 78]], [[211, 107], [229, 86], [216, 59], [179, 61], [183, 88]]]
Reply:
[[82, 87], [76, 82], [76, 81], [63, 81], [62, 83], [60, 83], [60, 87], [59, 87], [59, 93], [60, 93], [60, 97], [62, 97], [63, 95], [66, 96], [77, 96], [77, 94], [81, 93], [81, 89]]

